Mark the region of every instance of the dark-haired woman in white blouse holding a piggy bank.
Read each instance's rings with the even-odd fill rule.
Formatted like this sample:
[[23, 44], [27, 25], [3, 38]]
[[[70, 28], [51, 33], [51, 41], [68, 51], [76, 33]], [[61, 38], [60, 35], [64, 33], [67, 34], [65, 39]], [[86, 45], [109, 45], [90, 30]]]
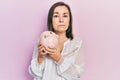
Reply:
[[78, 80], [84, 66], [83, 42], [73, 37], [72, 14], [67, 4], [57, 2], [50, 8], [48, 30], [59, 36], [59, 46], [51, 49], [37, 43], [29, 72], [35, 80]]

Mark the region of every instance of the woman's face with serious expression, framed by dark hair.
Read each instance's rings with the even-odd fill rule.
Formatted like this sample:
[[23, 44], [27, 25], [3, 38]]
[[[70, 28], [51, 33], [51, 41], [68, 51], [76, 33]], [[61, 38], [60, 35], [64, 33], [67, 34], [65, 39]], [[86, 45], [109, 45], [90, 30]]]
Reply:
[[69, 26], [70, 16], [66, 6], [58, 6], [53, 13], [53, 28], [55, 32], [66, 32]]

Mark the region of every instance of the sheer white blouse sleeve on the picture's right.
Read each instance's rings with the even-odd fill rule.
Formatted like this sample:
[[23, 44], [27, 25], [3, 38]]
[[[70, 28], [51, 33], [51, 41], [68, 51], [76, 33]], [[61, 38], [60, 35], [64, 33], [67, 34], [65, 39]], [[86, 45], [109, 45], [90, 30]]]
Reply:
[[57, 62], [57, 72], [67, 80], [77, 80], [84, 71], [83, 67], [83, 42], [81, 40], [70, 54], [62, 56]]

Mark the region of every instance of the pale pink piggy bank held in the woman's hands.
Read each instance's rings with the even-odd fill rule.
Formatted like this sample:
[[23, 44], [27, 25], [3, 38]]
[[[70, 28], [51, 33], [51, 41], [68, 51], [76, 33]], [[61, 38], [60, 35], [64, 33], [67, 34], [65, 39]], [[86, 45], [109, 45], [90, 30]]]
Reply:
[[58, 46], [58, 35], [52, 31], [44, 31], [40, 35], [39, 43], [45, 47], [56, 48]]

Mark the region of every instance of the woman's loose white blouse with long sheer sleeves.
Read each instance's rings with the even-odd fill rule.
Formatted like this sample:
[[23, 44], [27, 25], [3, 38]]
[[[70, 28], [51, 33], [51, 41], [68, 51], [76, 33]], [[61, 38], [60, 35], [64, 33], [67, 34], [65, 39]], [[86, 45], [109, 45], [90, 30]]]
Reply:
[[83, 42], [78, 38], [64, 42], [62, 58], [55, 62], [49, 57], [39, 64], [38, 42], [33, 51], [29, 73], [34, 80], [78, 80], [84, 67]]

